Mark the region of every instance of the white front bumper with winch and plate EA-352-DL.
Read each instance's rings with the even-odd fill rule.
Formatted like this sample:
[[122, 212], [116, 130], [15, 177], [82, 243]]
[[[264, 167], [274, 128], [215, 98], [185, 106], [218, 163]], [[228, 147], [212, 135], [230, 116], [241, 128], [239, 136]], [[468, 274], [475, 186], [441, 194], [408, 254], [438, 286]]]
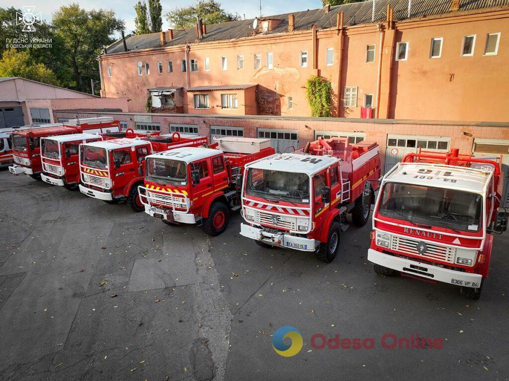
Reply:
[[240, 235], [272, 246], [300, 251], [315, 251], [317, 244], [316, 240], [292, 236], [283, 231], [273, 233], [247, 224], [240, 224]]

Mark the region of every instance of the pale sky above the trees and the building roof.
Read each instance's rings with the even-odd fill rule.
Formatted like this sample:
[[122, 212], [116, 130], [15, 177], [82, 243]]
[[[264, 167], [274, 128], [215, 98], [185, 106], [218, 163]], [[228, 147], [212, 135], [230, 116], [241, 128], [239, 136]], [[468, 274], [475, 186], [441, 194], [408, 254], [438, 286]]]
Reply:
[[[71, 0], [72, 1], [72, 0]], [[126, 25], [127, 34], [134, 30], [134, 9], [133, 6], [137, 0], [76, 0], [81, 8], [85, 9], [112, 9], [117, 14], [117, 17], [123, 19]], [[260, 0], [218, 0], [223, 8], [231, 13], [238, 13], [243, 18], [254, 18], [260, 16]], [[35, 6], [35, 13], [42, 13], [42, 19], [46, 21], [51, 20], [51, 13], [59, 9], [62, 5], [67, 5], [70, 2], [62, 0], [53, 0], [51, 2], [41, 0], [0, 0], [0, 7], [20, 8], [22, 6]], [[197, 0], [180, 0], [179, 2], [168, 2], [161, 0], [163, 12], [163, 30], [169, 27], [164, 14], [176, 6], [186, 7], [191, 4], [197, 3]], [[178, 4], [178, 5], [176, 5]], [[321, 8], [322, 3], [320, 0], [262, 0], [262, 14], [273, 15], [287, 12], [304, 11], [306, 9]]]

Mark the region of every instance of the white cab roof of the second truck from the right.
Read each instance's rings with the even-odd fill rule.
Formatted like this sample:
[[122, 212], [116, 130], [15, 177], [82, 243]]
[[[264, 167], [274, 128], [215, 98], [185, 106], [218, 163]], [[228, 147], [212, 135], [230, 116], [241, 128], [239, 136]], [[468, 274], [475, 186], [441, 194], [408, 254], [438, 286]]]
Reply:
[[246, 167], [282, 172], [305, 173], [309, 176], [328, 168], [340, 159], [332, 156], [275, 154], [248, 164]]

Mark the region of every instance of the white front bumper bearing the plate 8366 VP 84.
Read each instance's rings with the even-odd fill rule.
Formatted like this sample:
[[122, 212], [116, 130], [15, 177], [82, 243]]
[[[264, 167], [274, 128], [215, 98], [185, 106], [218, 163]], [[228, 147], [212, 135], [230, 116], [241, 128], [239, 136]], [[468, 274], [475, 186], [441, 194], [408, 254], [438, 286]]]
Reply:
[[464, 273], [461, 271], [444, 269], [437, 266], [420, 263], [415, 260], [400, 258], [376, 251], [367, 250], [367, 260], [389, 269], [418, 276], [423, 279], [436, 280], [465, 287], [480, 287], [483, 276], [480, 274]]

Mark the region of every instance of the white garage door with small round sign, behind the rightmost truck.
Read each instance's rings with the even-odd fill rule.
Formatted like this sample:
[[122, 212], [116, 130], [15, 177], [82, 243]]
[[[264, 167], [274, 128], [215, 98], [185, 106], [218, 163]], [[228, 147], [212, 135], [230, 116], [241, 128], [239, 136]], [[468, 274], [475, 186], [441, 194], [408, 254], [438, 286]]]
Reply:
[[449, 150], [448, 137], [422, 135], [387, 135], [387, 149], [385, 151], [385, 172], [399, 163], [406, 154], [420, 149], [432, 152], [447, 152]]

